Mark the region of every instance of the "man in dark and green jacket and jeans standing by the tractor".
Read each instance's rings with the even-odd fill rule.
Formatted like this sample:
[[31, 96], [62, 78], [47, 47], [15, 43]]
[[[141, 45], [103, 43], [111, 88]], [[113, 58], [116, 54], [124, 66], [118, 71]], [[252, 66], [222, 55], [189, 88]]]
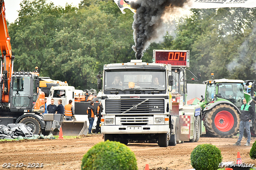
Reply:
[[241, 115], [240, 115], [240, 127], [239, 127], [239, 138], [237, 142], [233, 145], [241, 146], [241, 140], [244, 135], [244, 128], [248, 135], [248, 139], [244, 146], [250, 146], [251, 141], [251, 132], [250, 132], [250, 121], [255, 117], [255, 112], [250, 105], [247, 104], [246, 99], [243, 99], [244, 105], [241, 106]]

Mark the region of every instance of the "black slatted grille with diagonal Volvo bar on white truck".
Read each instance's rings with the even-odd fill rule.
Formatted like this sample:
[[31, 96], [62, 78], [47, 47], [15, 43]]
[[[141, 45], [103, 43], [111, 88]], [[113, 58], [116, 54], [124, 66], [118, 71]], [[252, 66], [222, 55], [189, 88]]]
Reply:
[[[106, 99], [106, 114], [154, 114], [164, 113], [164, 99]], [[136, 106], [137, 104], [144, 103]]]

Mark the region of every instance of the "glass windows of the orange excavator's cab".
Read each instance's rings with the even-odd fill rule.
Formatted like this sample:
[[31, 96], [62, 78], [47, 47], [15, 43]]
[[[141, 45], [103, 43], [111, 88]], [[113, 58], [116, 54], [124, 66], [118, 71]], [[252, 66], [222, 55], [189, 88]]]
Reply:
[[31, 77], [13, 77], [12, 103], [14, 107], [28, 107]]

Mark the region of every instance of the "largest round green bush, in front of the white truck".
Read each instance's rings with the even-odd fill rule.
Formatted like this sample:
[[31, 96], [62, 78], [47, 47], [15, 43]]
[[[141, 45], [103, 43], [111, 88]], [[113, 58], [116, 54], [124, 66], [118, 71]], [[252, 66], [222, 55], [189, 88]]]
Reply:
[[125, 144], [107, 140], [84, 154], [81, 170], [137, 170], [137, 160]]

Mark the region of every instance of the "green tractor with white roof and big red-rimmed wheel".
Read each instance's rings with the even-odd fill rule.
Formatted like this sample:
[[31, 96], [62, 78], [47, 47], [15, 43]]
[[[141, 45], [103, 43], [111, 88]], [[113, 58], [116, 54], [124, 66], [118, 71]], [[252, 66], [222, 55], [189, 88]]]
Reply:
[[[206, 134], [216, 137], [234, 136], [239, 131], [240, 108], [244, 98], [255, 111], [253, 100], [255, 80], [215, 79], [203, 83], [207, 85], [205, 99], [201, 96], [202, 100], [198, 104], [202, 108], [202, 120], [206, 127]], [[246, 87], [249, 83], [252, 84], [250, 88], [252, 95], [246, 93], [245, 83]], [[256, 121], [250, 126], [251, 135], [256, 136]]]

